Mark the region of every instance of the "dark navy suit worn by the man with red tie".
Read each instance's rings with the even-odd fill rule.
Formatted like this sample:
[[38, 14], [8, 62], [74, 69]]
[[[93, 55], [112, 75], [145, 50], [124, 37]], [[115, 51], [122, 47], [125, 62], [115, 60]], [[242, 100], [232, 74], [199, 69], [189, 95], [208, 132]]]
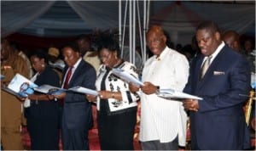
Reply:
[[[64, 73], [67, 72], [65, 68]], [[67, 88], [86, 87], [96, 89], [96, 71], [83, 59], [74, 71]], [[67, 92], [64, 98], [63, 114], [62, 114], [62, 132], [64, 149], [80, 150], [88, 148], [88, 129], [92, 117], [91, 103], [89, 103], [85, 95], [77, 92]], [[84, 138], [84, 140], [81, 140]], [[86, 143], [86, 144], [85, 144]]]

